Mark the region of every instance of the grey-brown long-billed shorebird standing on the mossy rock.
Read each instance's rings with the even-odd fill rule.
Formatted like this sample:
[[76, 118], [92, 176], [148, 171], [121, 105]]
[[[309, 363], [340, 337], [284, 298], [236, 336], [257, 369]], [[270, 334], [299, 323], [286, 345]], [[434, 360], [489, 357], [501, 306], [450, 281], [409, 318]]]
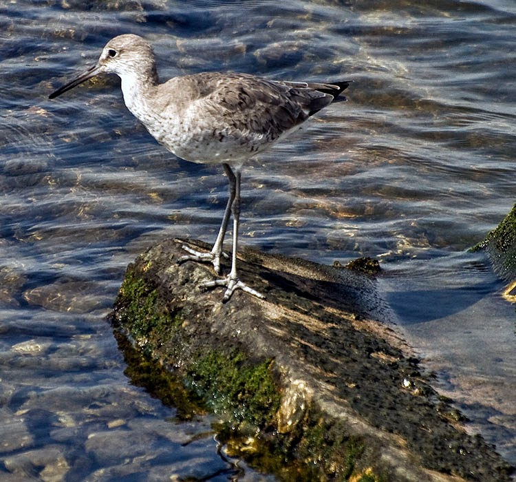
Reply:
[[102, 73], [120, 77], [125, 105], [158, 143], [193, 163], [222, 164], [228, 176], [228, 203], [213, 249], [202, 253], [184, 246], [190, 254], [179, 262], [208, 261], [218, 275], [224, 235], [233, 214], [230, 273], [203, 286], [225, 286], [224, 302], [237, 289], [263, 298], [241, 282], [237, 274], [242, 165], [332, 103], [349, 83], [270, 81], [220, 72], [174, 77], [159, 83], [149, 43], [138, 35], [125, 34], [111, 39], [96, 65], [49, 98]]

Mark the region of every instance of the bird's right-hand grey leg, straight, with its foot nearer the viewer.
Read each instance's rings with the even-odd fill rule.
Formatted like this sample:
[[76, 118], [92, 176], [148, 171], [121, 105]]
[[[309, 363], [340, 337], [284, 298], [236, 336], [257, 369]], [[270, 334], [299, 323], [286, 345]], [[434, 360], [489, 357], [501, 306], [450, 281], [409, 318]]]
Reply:
[[[228, 169], [231, 171], [229, 166]], [[233, 171], [231, 171], [231, 174], [233, 174]], [[231, 207], [231, 212], [233, 214], [233, 253], [231, 253], [231, 271], [229, 275], [223, 280], [208, 281], [203, 283], [202, 286], [206, 286], [207, 288], [212, 286], [226, 286], [226, 291], [224, 293], [224, 297], [222, 298], [222, 302], [227, 302], [237, 289], [241, 289], [246, 293], [250, 293], [250, 295], [263, 299], [265, 297], [264, 295], [250, 288], [238, 279], [237, 251], [238, 227], [240, 221], [240, 171], [237, 170], [236, 174], [233, 174], [233, 176], [228, 176], [228, 178], [230, 180], [230, 184], [233, 183], [233, 188], [230, 186], [230, 191], [233, 190], [235, 192], [235, 199], [233, 200], [233, 205]]]

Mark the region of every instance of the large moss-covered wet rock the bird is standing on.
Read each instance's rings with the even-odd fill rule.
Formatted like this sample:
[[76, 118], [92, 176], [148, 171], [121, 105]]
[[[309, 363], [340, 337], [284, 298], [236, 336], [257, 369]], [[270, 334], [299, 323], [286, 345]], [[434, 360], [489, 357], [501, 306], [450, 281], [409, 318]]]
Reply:
[[[213, 410], [234, 452], [283, 480], [509, 480], [380, 322], [389, 310], [374, 278], [243, 250], [241, 278], [266, 300], [237, 292], [222, 304], [221, 289], [198, 287], [211, 266], [176, 262], [181, 244], [129, 266], [111, 321]], [[264, 450], [281, 463], [264, 467]]]

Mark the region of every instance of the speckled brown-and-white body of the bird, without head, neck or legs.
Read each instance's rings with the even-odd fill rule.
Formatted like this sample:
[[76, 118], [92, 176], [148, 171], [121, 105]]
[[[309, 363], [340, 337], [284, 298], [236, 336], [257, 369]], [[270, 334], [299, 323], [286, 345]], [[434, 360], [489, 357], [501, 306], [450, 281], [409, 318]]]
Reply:
[[[160, 99], [171, 95], [174, 103], [160, 108]], [[332, 99], [264, 78], [211, 72], [158, 85], [147, 100], [154, 107], [153, 118], [135, 115], [158, 142], [181, 158], [238, 165], [292, 132]]]

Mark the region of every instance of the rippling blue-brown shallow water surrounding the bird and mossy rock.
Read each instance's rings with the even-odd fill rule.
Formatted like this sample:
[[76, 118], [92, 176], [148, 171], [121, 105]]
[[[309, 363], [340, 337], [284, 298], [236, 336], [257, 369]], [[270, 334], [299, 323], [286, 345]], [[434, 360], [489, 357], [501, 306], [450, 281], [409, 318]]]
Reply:
[[127, 32], [153, 43], [162, 78], [354, 81], [347, 103], [244, 170], [242, 244], [382, 260], [380, 286], [440, 390], [516, 463], [514, 306], [484, 257], [466, 253], [515, 202], [515, 3], [236, 5], [0, 5], [2, 478], [235, 473], [208, 418], [180, 423], [129, 383], [105, 322], [140, 251], [175, 235], [215, 238], [222, 169], [164, 151], [114, 78], [47, 100]]

